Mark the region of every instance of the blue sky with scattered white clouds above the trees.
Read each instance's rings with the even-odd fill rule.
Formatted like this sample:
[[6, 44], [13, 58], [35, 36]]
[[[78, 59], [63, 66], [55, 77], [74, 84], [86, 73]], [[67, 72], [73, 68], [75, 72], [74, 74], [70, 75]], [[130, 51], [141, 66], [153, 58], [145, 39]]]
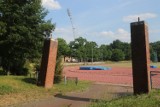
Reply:
[[160, 40], [159, 4], [160, 0], [42, 0], [49, 12], [46, 20], [52, 19], [56, 25], [53, 38], [63, 38], [69, 43], [83, 37], [98, 45], [107, 45], [116, 39], [130, 42], [130, 23], [138, 17], [148, 25], [149, 42]]

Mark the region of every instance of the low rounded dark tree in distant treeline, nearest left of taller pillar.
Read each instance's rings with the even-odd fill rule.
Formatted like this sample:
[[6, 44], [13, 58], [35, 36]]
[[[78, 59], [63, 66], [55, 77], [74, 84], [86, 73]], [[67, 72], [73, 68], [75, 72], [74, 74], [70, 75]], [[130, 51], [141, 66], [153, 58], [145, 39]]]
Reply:
[[120, 49], [113, 49], [112, 51], [112, 61], [122, 61], [124, 60], [124, 53]]

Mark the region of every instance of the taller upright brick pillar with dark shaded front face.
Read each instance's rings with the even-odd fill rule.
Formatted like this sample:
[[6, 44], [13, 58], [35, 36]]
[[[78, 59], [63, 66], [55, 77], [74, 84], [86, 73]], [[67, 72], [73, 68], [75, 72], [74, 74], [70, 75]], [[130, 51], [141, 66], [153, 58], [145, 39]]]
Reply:
[[150, 52], [148, 26], [144, 21], [131, 23], [132, 72], [134, 94], [148, 93], [150, 85]]

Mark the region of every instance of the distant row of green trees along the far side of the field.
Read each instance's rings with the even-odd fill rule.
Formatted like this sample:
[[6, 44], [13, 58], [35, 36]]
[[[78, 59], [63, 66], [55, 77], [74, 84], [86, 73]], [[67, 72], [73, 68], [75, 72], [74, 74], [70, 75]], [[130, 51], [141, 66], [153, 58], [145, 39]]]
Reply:
[[[64, 39], [60, 39], [62, 45], [59, 47], [59, 53], [68, 57], [76, 58], [79, 62], [93, 61], [122, 61], [131, 60], [131, 45], [127, 42], [114, 40], [109, 45], [98, 46], [96, 42], [87, 41], [85, 38], [79, 37], [69, 44]], [[68, 45], [69, 48], [66, 46]], [[117, 51], [118, 50], [118, 51]], [[158, 61], [160, 59], [160, 42], [150, 44], [151, 60]], [[113, 55], [113, 54], [116, 54]]]

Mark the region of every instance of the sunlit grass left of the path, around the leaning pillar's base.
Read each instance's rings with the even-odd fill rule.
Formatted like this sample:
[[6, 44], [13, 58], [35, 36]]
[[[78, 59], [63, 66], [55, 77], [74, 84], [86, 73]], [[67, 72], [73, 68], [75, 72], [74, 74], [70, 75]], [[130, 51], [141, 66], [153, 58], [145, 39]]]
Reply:
[[0, 76], [0, 107], [13, 105], [31, 100], [39, 100], [48, 98], [55, 93], [83, 91], [89, 87], [91, 83], [79, 81], [76, 86], [73, 81], [60, 84], [54, 84], [52, 89], [44, 89], [35, 84], [35, 79], [24, 76]]

